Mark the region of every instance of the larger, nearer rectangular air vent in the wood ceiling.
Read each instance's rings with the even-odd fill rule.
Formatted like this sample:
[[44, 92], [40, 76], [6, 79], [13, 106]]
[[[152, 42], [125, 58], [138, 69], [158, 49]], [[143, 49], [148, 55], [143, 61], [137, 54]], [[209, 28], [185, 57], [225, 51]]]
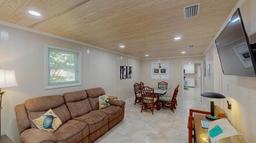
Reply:
[[201, 3], [184, 7], [183, 8], [184, 18], [187, 19], [187, 18], [199, 16], [200, 5]]

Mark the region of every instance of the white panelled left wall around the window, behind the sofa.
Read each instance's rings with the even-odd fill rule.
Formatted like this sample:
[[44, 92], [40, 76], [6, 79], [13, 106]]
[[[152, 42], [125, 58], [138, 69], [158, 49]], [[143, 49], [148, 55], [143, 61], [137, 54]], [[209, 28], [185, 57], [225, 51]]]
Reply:
[[[20, 140], [14, 106], [26, 99], [95, 87], [102, 87], [106, 93], [117, 95], [118, 99], [127, 99], [133, 96], [133, 84], [140, 81], [141, 61], [138, 59], [4, 25], [0, 25], [0, 34], [0, 67], [16, 70], [18, 82], [18, 87], [3, 89], [6, 93], [2, 102], [1, 131], [15, 142]], [[81, 86], [44, 89], [45, 44], [82, 51]], [[90, 54], [87, 49], [90, 49]], [[133, 67], [131, 79], [120, 80], [121, 65]]]

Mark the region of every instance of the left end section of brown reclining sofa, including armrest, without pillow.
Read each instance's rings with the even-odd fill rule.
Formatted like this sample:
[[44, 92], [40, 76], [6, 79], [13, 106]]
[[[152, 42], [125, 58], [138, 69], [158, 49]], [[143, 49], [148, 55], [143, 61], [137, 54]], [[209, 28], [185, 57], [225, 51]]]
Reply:
[[[52, 109], [62, 122], [53, 134], [37, 129], [32, 121], [44, 115], [49, 109]], [[22, 142], [89, 142], [89, 126], [84, 122], [71, 120], [61, 95], [26, 100], [24, 104], [15, 106], [15, 112]]]

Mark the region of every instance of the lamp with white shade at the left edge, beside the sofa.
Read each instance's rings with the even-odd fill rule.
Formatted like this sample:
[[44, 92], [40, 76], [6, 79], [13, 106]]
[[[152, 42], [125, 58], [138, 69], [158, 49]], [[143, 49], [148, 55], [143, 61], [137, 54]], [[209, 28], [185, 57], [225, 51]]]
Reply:
[[5, 92], [1, 88], [16, 87], [17, 81], [15, 77], [15, 70], [1, 70], [0, 69], [0, 135], [1, 135], [1, 109], [2, 109], [2, 96]]

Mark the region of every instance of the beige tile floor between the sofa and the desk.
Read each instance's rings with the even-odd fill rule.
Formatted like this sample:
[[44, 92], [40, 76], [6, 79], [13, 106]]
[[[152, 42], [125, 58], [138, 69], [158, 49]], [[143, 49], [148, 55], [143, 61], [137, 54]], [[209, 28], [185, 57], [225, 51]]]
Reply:
[[184, 143], [188, 142], [187, 118], [189, 108], [206, 110], [200, 101], [200, 88], [184, 90], [173, 113], [170, 109], [140, 112], [141, 105], [134, 105], [134, 98], [125, 101], [122, 122], [104, 134], [98, 143]]

